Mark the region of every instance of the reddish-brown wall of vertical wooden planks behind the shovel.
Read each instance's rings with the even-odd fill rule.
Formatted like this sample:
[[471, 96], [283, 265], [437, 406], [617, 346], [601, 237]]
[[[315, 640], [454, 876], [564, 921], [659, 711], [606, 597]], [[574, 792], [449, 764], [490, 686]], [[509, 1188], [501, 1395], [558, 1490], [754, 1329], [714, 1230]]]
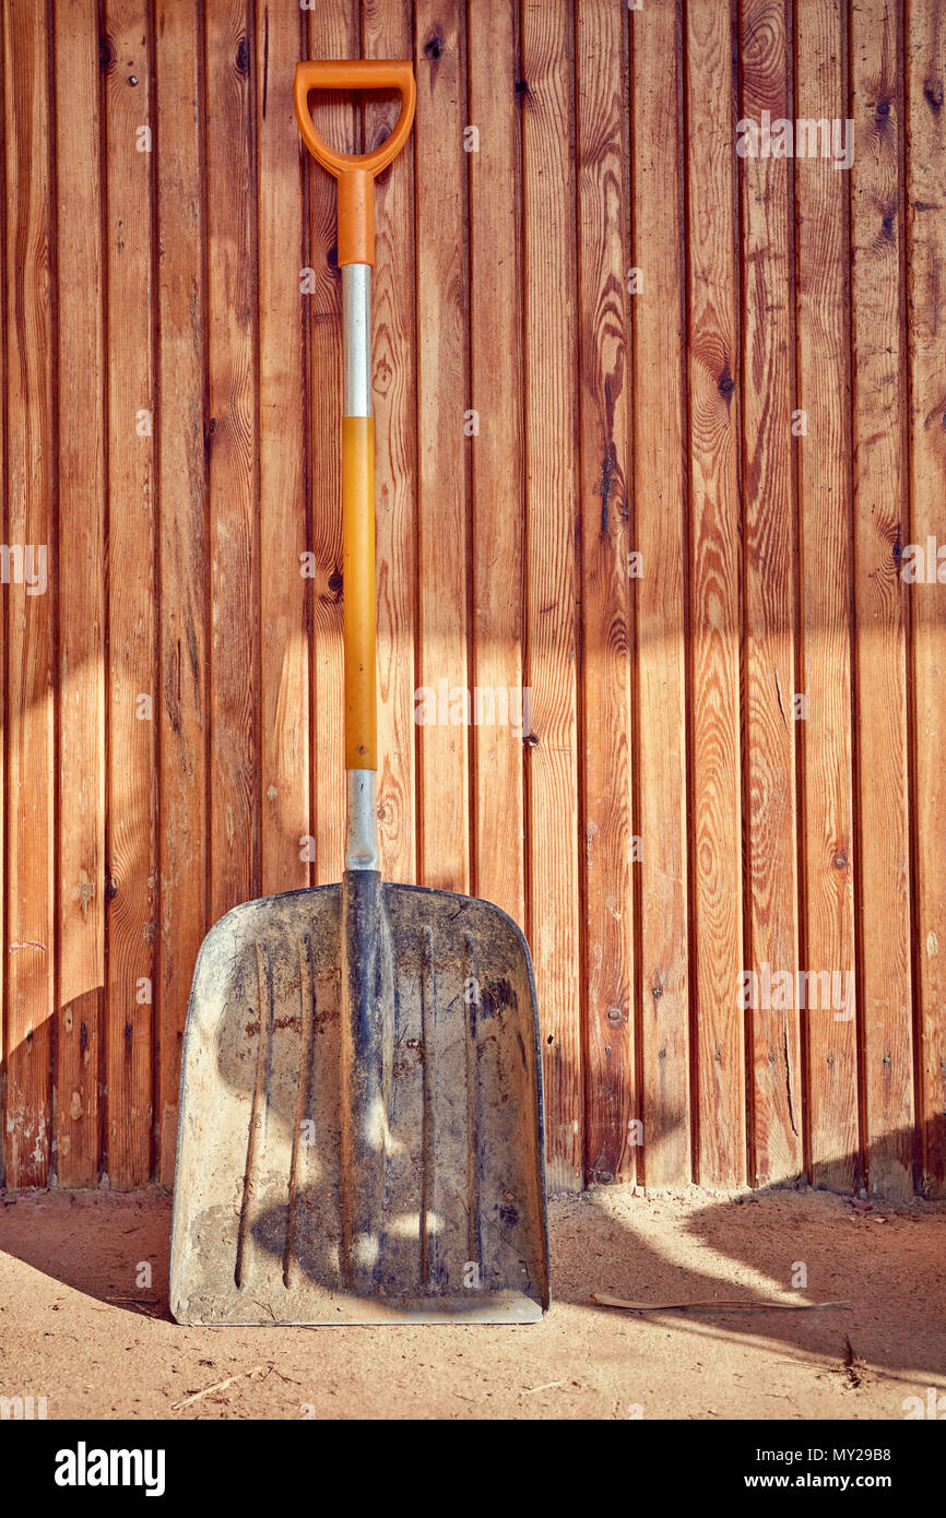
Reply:
[[[553, 1186], [946, 1195], [946, 584], [899, 572], [946, 543], [940, 0], [2, 9], [0, 537], [49, 565], [0, 587], [6, 1184], [170, 1183], [203, 934], [340, 873], [340, 278], [290, 83], [363, 53], [418, 76], [389, 877], [524, 924]], [[736, 156], [762, 111], [850, 117], [850, 172]], [[418, 726], [439, 682], [531, 721]], [[762, 965], [852, 972], [852, 1016], [743, 1011]]]

